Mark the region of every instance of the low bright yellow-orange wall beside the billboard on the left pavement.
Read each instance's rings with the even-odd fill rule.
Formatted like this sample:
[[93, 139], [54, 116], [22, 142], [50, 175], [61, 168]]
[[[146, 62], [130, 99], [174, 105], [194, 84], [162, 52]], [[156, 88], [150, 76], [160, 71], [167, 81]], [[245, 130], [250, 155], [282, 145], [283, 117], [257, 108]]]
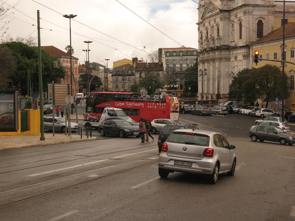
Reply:
[[20, 111], [18, 112], [19, 129], [16, 132], [0, 132], [0, 136], [7, 135], [40, 135], [40, 110], [27, 110], [28, 113], [28, 130], [20, 130]]

